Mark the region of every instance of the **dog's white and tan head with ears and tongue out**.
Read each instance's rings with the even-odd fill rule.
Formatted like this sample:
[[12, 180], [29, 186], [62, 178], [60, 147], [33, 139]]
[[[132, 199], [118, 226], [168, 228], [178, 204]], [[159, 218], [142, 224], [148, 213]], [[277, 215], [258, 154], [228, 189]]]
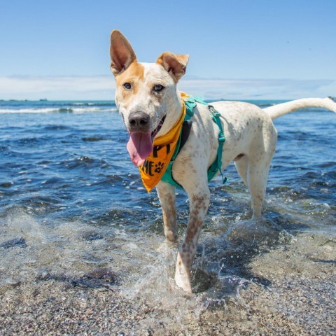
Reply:
[[130, 141], [134, 165], [142, 165], [153, 151], [153, 139], [174, 125], [181, 106], [176, 83], [186, 73], [189, 55], [164, 52], [155, 63], [139, 63], [125, 36], [111, 33], [111, 71], [116, 76], [116, 105]]

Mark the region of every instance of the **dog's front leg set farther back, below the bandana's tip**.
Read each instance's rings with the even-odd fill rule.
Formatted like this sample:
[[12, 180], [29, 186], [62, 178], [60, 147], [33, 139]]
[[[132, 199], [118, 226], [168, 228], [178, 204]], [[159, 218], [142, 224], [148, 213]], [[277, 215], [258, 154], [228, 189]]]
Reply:
[[165, 236], [169, 241], [176, 241], [176, 201], [175, 187], [169, 183], [160, 182], [156, 186], [162, 207]]

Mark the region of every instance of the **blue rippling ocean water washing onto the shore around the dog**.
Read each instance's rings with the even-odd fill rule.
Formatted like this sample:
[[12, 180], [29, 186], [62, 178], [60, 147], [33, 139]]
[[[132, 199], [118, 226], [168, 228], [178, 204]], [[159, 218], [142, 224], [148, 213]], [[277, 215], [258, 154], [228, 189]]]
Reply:
[[[113, 102], [2, 101], [0, 120], [0, 293], [38, 281], [109, 286], [83, 274], [112, 269], [125, 297], [159, 302], [174, 324], [183, 309], [197, 312], [239, 297], [249, 283], [267, 284], [248, 267], [265, 252], [301, 235], [335, 241], [336, 116], [330, 111], [300, 110], [275, 120], [279, 139], [263, 223], [251, 220], [234, 165], [225, 169], [227, 184], [221, 177], [211, 181], [192, 303], [174, 288], [177, 246], [165, 242], [158, 196], [141, 184]], [[183, 190], [176, 195], [181, 241], [189, 202]], [[305, 251], [313, 248], [305, 244]]]

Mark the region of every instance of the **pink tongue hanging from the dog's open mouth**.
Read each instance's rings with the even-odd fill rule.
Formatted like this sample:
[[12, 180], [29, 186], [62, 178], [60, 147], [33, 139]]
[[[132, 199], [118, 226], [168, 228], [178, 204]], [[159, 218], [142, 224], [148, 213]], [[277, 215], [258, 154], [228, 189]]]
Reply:
[[134, 165], [141, 166], [153, 151], [151, 133], [131, 133], [127, 142], [127, 151]]

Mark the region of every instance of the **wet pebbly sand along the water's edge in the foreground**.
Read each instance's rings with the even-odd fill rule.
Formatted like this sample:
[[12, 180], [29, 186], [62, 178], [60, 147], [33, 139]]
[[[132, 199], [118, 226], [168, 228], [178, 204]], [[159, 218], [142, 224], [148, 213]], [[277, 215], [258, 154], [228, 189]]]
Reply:
[[255, 278], [235, 295], [181, 295], [176, 307], [127, 298], [111, 270], [27, 276], [0, 287], [0, 335], [335, 335], [335, 255], [335, 239], [297, 235], [250, 260]]

